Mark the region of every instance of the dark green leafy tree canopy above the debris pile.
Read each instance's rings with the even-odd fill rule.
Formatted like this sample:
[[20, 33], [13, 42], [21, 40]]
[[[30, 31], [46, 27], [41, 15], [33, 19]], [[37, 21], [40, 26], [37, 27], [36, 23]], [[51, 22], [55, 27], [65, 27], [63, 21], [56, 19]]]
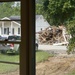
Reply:
[[75, 5], [70, 0], [50, 0], [48, 7], [51, 24], [63, 24], [74, 16]]

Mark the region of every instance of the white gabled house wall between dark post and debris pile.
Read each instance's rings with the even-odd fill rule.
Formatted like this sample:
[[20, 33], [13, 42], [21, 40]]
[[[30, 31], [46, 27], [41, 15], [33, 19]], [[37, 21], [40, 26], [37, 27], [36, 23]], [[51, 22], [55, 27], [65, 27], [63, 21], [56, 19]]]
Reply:
[[36, 32], [39, 32], [41, 30], [44, 30], [45, 28], [49, 27], [50, 24], [45, 20], [45, 18], [42, 15], [36, 15]]

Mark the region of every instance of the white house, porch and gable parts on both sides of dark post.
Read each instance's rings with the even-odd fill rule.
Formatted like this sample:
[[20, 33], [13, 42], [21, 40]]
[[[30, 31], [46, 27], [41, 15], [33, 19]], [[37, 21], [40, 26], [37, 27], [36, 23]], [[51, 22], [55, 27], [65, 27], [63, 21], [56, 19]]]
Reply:
[[[42, 15], [36, 15], [35, 18], [36, 32], [41, 31], [41, 29], [44, 30], [49, 26], [50, 26], [49, 23], [44, 19]], [[21, 35], [20, 16], [10, 16], [2, 18], [0, 20], [0, 35], [2, 36]]]

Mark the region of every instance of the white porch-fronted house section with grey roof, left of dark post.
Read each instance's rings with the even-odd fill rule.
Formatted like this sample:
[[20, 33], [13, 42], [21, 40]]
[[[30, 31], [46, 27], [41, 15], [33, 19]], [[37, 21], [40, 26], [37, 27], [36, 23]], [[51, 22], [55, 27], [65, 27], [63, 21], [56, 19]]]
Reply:
[[0, 20], [0, 35], [2, 36], [21, 35], [20, 17], [11, 16], [9, 18], [8, 17], [2, 18]]

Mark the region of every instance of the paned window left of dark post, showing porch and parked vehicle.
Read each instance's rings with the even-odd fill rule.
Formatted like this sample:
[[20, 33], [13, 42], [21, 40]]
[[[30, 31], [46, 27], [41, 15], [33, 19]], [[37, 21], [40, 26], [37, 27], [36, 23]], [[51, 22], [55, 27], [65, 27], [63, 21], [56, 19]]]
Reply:
[[[18, 27], [20, 26], [19, 22], [21, 19], [17, 16], [21, 16], [19, 12], [20, 6], [16, 6], [20, 1], [3, 1], [0, 2], [0, 32], [1, 32], [1, 39], [0, 43], [0, 56], [3, 54], [3, 58], [0, 58], [0, 74], [6, 73], [8, 71], [8, 75], [11, 75], [11, 72], [17, 69], [17, 74], [19, 75], [19, 68], [20, 68], [20, 36], [13, 35], [18, 34]], [[16, 4], [16, 5], [15, 5]], [[14, 7], [13, 7], [13, 6]], [[12, 9], [11, 9], [12, 8]], [[18, 12], [17, 12], [18, 11]], [[11, 13], [10, 13], [11, 12]], [[16, 13], [17, 12], [17, 13]], [[15, 15], [14, 15], [15, 14]], [[14, 16], [13, 16], [14, 15]], [[15, 31], [14, 29], [15, 28]], [[13, 35], [9, 37], [10, 35]], [[14, 37], [12, 40], [11, 38]], [[9, 39], [10, 38], [10, 39]], [[5, 43], [7, 42], [7, 43]], [[9, 43], [10, 42], [10, 43]], [[17, 54], [16, 56], [12, 56], [12, 54]], [[10, 55], [10, 57], [9, 57]], [[12, 59], [13, 58], [13, 59]], [[11, 59], [11, 60], [10, 60]], [[6, 64], [5, 64], [6, 63]], [[7, 65], [9, 64], [9, 65]], [[15, 65], [16, 64], [16, 65]], [[4, 68], [3, 68], [4, 67]], [[4, 72], [1, 71], [4, 69]]]

